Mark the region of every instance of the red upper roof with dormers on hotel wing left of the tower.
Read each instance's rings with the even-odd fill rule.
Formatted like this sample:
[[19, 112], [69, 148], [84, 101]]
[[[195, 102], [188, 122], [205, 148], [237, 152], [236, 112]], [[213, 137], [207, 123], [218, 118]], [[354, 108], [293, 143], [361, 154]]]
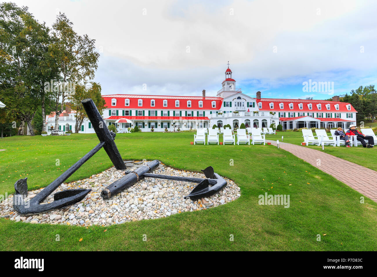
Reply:
[[[164, 96], [164, 95], [102, 95], [105, 99], [105, 107], [108, 109], [151, 109], [151, 110], [219, 110], [221, 109], [221, 97], [202, 97], [202, 96]], [[116, 105], [111, 106], [111, 99], [116, 99]], [[130, 100], [130, 106], [124, 105], [124, 100]], [[138, 99], [143, 99], [143, 106], [138, 106]], [[150, 100], [155, 100], [155, 106], [150, 106]], [[167, 100], [167, 107], [164, 107], [163, 101]], [[175, 106], [175, 101], [179, 100], [179, 107]], [[187, 107], [187, 101], [191, 101], [191, 107]], [[203, 101], [203, 107], [199, 108], [199, 101]], [[212, 107], [212, 101], [216, 102], [216, 107]]]

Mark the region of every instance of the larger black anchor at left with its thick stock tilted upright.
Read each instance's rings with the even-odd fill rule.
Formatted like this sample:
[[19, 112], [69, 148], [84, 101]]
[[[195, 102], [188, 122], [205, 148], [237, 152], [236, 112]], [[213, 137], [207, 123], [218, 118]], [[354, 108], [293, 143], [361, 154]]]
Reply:
[[115, 133], [110, 132], [107, 129], [102, 116], [97, 110], [92, 99], [84, 99], [81, 101], [83, 107], [87, 113], [87, 116], [97, 134], [100, 143], [97, 144], [92, 150], [90, 150], [83, 158], [78, 160], [68, 170], [61, 174], [51, 184], [45, 187], [40, 193], [38, 193], [31, 200], [25, 202], [25, 198], [28, 194], [28, 185], [26, 181], [28, 178], [20, 179], [14, 184], [15, 194], [13, 197], [13, 207], [18, 213], [26, 214], [39, 214], [49, 210], [58, 209], [67, 205], [74, 204], [84, 199], [84, 197], [91, 191], [91, 189], [72, 189], [64, 190], [54, 194], [54, 201], [48, 204], [40, 204], [45, 200], [54, 190], [56, 190], [69, 176], [71, 176], [78, 168], [81, 167], [87, 160], [89, 160], [95, 153], [101, 148], [104, 148], [110, 160], [118, 170], [126, 169], [126, 165], [116, 147], [114, 142]]

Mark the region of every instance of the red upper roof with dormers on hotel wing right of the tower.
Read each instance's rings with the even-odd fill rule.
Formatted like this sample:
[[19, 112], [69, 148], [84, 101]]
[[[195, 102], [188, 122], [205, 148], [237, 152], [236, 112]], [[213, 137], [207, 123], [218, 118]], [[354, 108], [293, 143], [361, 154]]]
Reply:
[[[304, 99], [273, 99], [273, 98], [261, 98], [256, 99], [257, 107], [259, 107], [259, 103], [262, 103], [262, 108], [259, 110], [263, 111], [279, 111], [282, 112], [323, 112], [323, 113], [330, 113], [330, 112], [349, 112], [354, 113], [356, 110], [352, 107], [351, 104], [345, 102], [334, 102], [334, 101], [327, 101], [327, 100], [304, 100]], [[270, 103], [274, 103], [274, 108], [270, 108]], [[280, 109], [280, 103], [284, 104], [283, 109]], [[289, 108], [289, 104], [293, 104], [293, 109]], [[299, 104], [302, 103], [302, 109], [299, 109]], [[312, 104], [312, 109], [309, 110], [308, 104]], [[321, 104], [321, 109], [317, 108], [317, 104]], [[330, 109], [326, 108], [326, 104], [330, 104]], [[335, 109], [335, 105], [339, 104], [339, 110]], [[348, 110], [346, 105], [351, 105], [351, 110]]]

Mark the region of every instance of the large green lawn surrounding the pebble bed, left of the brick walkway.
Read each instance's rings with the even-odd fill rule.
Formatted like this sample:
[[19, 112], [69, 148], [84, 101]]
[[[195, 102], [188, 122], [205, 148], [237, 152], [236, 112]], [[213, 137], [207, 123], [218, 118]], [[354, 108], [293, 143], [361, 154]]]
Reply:
[[[284, 141], [288, 140], [287, 135]], [[365, 204], [360, 204], [362, 194], [332, 176], [273, 145], [190, 145], [190, 141], [193, 133], [118, 134], [115, 140], [124, 159], [159, 159], [166, 165], [193, 171], [212, 165], [217, 173], [241, 187], [239, 199], [208, 210], [107, 228], [0, 219], [0, 249], [376, 249], [377, 203], [366, 198]], [[94, 134], [1, 139], [0, 149], [6, 151], [0, 152], [0, 194], [14, 192], [14, 182], [25, 176], [29, 188], [48, 185], [97, 143]], [[368, 150], [357, 148], [351, 150]], [[342, 150], [351, 153], [350, 149]], [[233, 166], [230, 159], [234, 160]], [[87, 178], [111, 165], [104, 150], [100, 150], [69, 181]], [[289, 194], [290, 208], [259, 205], [258, 196], [265, 192]], [[59, 242], [55, 241], [56, 234], [60, 235]], [[143, 234], [147, 241], [143, 241]], [[317, 241], [317, 234], [321, 241]], [[230, 241], [231, 235], [234, 241]]]

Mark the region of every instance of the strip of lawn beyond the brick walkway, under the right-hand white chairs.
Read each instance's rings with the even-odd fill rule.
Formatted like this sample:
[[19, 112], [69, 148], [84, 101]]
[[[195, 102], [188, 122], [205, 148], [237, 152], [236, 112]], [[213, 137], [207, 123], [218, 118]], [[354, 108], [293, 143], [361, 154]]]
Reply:
[[[330, 133], [328, 133], [328, 135], [331, 136]], [[275, 141], [279, 139], [279, 141], [281, 141], [282, 136], [284, 136], [283, 142], [296, 145], [301, 145], [301, 142], [304, 141], [302, 132], [277, 132], [276, 135], [266, 135], [266, 139], [273, 139]], [[322, 150], [322, 147], [317, 145], [301, 145], [301, 147], [310, 147], [323, 151], [338, 158], [342, 158], [377, 171], [377, 147], [364, 148], [362, 145], [359, 145], [357, 147], [347, 148], [344, 145], [341, 145], [340, 147], [325, 145], [325, 150]]]

